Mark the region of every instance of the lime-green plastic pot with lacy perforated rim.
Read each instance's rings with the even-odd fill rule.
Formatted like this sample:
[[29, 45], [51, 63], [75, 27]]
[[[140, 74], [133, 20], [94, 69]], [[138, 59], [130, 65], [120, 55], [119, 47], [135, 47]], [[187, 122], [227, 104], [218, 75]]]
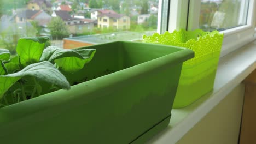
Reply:
[[182, 65], [181, 78], [173, 108], [190, 105], [206, 93], [212, 91], [222, 47], [223, 34], [218, 31], [204, 32], [173, 31], [144, 36], [146, 43], [158, 43], [186, 47], [195, 52], [195, 57]]

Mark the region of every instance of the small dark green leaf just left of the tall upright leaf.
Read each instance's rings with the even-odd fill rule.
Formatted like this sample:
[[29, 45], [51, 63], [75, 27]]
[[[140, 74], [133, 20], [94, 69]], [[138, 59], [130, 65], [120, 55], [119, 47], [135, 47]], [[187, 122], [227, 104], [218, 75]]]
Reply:
[[19, 70], [19, 56], [11, 58], [10, 61], [5, 61], [4, 67], [7, 69], [8, 74], [12, 74], [16, 70]]

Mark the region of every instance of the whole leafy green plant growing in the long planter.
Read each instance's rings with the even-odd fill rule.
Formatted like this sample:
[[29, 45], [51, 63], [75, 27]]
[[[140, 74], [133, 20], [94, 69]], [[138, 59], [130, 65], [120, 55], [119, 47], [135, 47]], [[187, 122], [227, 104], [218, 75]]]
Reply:
[[60, 70], [74, 73], [91, 61], [95, 49], [48, 46], [48, 37], [21, 38], [17, 56], [0, 49], [0, 106], [18, 103], [57, 89], [70, 89]]

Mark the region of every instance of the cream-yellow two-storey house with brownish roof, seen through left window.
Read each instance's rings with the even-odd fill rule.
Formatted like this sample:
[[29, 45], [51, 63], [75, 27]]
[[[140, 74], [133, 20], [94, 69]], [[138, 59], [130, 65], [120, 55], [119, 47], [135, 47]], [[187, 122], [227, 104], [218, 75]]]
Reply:
[[130, 17], [117, 13], [102, 13], [98, 16], [98, 28], [130, 29]]

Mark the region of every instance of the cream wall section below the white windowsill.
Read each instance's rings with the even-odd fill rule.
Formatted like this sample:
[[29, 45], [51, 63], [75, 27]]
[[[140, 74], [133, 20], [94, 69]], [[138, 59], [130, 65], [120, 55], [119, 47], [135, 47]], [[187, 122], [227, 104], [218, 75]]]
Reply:
[[244, 93], [245, 86], [238, 85], [177, 143], [238, 143]]

